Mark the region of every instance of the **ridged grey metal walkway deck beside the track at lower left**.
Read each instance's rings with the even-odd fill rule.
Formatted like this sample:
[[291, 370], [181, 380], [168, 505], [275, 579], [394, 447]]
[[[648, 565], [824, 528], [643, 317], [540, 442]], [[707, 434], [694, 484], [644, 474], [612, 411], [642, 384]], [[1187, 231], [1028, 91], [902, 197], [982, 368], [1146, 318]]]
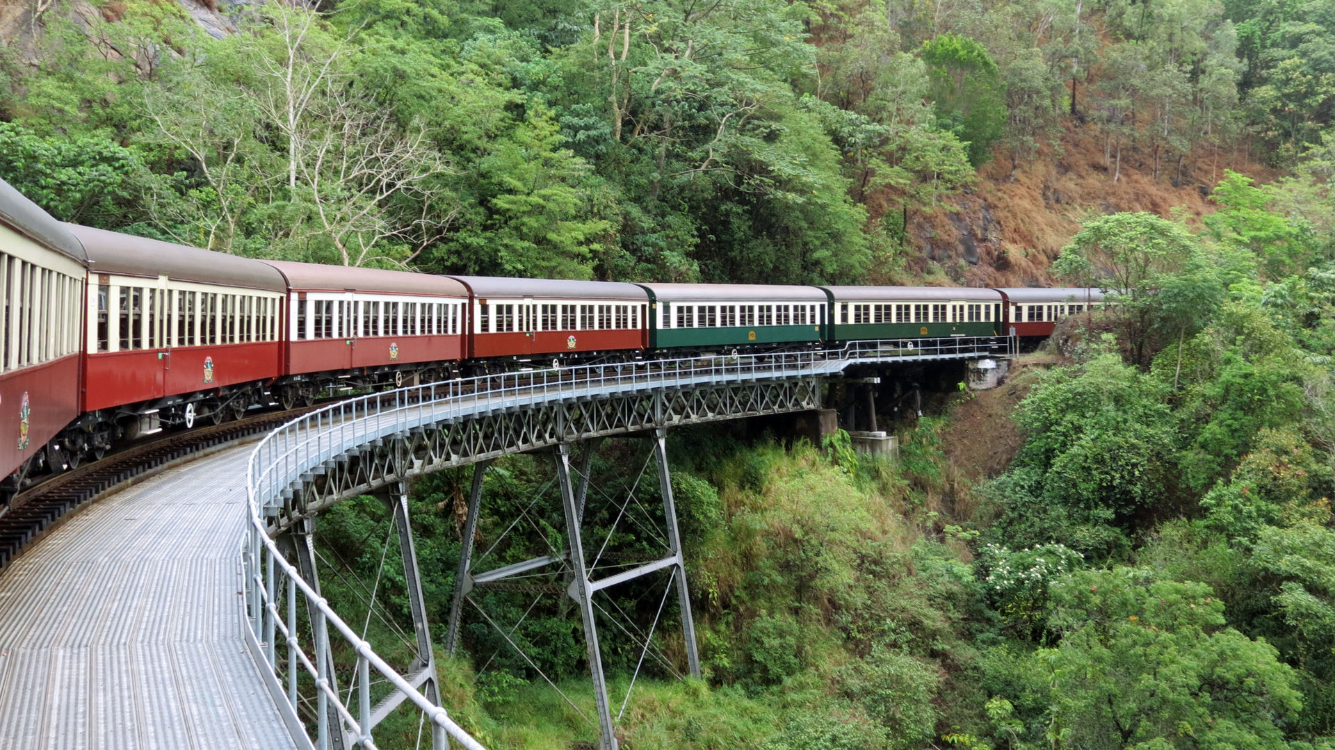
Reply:
[[104, 498], [0, 574], [0, 747], [294, 747], [239, 622], [252, 447]]

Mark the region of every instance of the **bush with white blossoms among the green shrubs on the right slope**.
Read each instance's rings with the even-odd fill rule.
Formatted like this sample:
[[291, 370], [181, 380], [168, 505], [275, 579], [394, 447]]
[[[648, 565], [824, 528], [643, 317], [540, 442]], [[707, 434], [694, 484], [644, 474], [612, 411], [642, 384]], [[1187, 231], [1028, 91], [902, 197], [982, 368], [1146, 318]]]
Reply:
[[988, 602], [1007, 621], [1036, 637], [1048, 619], [1048, 586], [1084, 567], [1084, 555], [1065, 544], [1036, 544], [1012, 550], [984, 544], [977, 556]]

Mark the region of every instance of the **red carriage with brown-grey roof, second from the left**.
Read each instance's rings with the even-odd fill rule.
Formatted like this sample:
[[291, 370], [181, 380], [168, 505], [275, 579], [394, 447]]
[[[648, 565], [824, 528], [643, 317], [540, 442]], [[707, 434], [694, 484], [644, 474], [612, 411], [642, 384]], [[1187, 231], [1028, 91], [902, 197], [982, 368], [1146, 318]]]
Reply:
[[88, 254], [81, 411], [93, 454], [267, 403], [283, 276], [256, 260], [65, 224]]

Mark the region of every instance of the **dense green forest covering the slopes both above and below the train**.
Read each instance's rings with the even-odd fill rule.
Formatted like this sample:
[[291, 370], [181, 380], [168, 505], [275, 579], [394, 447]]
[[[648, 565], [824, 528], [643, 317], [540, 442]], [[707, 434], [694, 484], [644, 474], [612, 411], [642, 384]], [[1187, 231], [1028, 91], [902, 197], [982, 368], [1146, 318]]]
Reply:
[[[0, 177], [61, 220], [427, 272], [1116, 290], [894, 423], [893, 462], [674, 431], [705, 674], [673, 679], [665, 625], [623, 747], [1335, 749], [1335, 1], [53, 0], [0, 37]], [[1004, 203], [1040, 173], [1091, 187]], [[930, 250], [979, 202], [1011, 218], [991, 255]], [[415, 487], [434, 622], [466, 483]], [[527, 456], [487, 479], [551, 492]], [[402, 627], [378, 503], [320, 523]], [[453, 715], [589, 742], [577, 623], [526, 619], [537, 663], [471, 623]]]

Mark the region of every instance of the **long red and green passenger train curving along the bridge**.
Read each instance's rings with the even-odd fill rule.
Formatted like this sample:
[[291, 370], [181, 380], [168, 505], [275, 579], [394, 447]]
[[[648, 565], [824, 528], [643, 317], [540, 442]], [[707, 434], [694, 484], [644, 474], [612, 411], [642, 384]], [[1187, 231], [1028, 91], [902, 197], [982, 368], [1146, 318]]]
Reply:
[[248, 259], [56, 220], [0, 180], [0, 498], [164, 428], [525, 367], [1043, 338], [1093, 288], [578, 282]]

